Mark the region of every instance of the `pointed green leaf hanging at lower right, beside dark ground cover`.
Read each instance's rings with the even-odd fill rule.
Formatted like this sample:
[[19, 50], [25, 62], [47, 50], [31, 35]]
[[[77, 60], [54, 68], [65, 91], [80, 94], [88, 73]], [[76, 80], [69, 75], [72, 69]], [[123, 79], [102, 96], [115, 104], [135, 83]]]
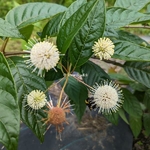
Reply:
[[135, 118], [133, 116], [129, 116], [129, 124], [130, 124], [130, 128], [133, 132], [133, 135], [135, 138], [138, 137], [138, 135], [141, 132], [142, 129], [142, 119], [140, 118]]

